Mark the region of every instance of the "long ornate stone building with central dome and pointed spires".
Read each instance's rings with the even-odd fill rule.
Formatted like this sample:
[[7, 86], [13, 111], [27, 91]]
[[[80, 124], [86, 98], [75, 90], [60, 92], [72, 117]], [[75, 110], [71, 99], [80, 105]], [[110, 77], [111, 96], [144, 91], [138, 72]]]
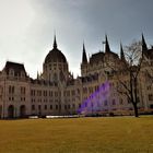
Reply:
[[[144, 37], [142, 51], [145, 57], [143, 69], [153, 73], [153, 48], [148, 49]], [[122, 47], [119, 57], [110, 50], [107, 36], [105, 52], [96, 52], [89, 60], [83, 44], [81, 76], [73, 79], [55, 37], [54, 48], [46, 56], [43, 73], [37, 74], [37, 79], [27, 75], [24, 64], [7, 61], [0, 72], [0, 117], [131, 114], [131, 103], [117, 92], [118, 81], [106, 64], [113, 63], [120, 70], [125, 60]], [[126, 72], [120, 78], [126, 81]], [[153, 111], [153, 85], [144, 71], [139, 76], [138, 94], [139, 110]]]

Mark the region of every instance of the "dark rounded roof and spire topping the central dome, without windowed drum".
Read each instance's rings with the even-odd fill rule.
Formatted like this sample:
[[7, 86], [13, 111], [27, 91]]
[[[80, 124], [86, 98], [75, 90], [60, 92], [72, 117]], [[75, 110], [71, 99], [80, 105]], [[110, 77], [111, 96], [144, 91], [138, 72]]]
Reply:
[[56, 37], [55, 37], [52, 50], [50, 50], [49, 54], [45, 58], [45, 63], [49, 63], [49, 62], [67, 63], [67, 59], [64, 55], [57, 48]]

